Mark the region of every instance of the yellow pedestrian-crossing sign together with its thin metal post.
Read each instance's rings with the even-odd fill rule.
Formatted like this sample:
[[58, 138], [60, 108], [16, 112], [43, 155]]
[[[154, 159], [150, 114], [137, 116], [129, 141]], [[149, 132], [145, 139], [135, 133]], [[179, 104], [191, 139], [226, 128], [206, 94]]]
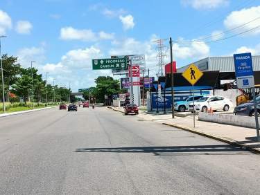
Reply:
[[194, 104], [194, 84], [200, 80], [203, 73], [200, 69], [195, 65], [191, 64], [183, 73], [182, 77], [184, 77], [191, 85], [192, 85], [192, 96], [193, 96], [193, 127], [195, 128], [195, 104]]

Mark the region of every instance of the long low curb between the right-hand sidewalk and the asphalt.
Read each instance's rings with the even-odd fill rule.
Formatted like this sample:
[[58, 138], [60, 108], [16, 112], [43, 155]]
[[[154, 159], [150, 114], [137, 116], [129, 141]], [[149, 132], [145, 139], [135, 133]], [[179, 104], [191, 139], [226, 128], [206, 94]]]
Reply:
[[177, 129], [182, 129], [184, 131], [189, 131], [191, 133], [196, 133], [200, 136], [205, 136], [207, 138], [211, 138], [211, 139], [214, 139], [214, 140], [218, 140], [220, 142], [225, 142], [229, 145], [233, 145], [233, 146], [236, 146], [236, 147], [241, 147], [242, 149], [247, 149], [248, 151], [252, 151], [256, 154], [260, 154], [260, 150], [259, 149], [255, 149], [253, 147], [250, 147], [248, 145], [243, 145], [243, 144], [240, 144], [239, 142], [237, 142], [236, 140], [232, 140], [232, 139], [229, 139], [229, 138], [222, 138], [222, 137], [219, 137], [219, 136], [215, 136], [213, 134], [210, 134], [210, 133], [204, 133], [202, 131], [198, 131], [198, 130], [195, 130], [195, 129], [191, 129], [189, 127], [184, 127], [184, 126], [181, 126], [179, 124], [168, 124], [166, 122], [163, 122], [162, 124], [164, 125], [167, 125], [167, 126], [170, 126], [170, 127], [175, 127]]

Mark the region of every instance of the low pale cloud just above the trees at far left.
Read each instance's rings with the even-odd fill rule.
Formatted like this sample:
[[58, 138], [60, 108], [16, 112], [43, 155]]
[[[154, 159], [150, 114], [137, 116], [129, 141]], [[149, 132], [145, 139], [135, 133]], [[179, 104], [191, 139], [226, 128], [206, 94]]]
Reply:
[[18, 53], [18, 62], [23, 67], [31, 66], [31, 61], [36, 61], [35, 66], [40, 66], [44, 62], [45, 56], [44, 46], [31, 47], [31, 48], [21, 48]]

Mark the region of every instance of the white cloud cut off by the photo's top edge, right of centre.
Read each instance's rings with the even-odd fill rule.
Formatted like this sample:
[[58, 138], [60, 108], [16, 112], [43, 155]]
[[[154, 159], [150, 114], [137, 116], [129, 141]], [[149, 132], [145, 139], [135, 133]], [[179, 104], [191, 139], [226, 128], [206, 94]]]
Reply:
[[192, 6], [195, 9], [214, 9], [227, 6], [228, 0], [182, 0], [185, 6]]

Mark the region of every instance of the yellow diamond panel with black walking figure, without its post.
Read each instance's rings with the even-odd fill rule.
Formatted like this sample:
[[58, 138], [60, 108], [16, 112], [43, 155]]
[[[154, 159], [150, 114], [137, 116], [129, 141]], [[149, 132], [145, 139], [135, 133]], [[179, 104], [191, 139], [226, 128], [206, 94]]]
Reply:
[[191, 64], [185, 71], [182, 73], [182, 77], [184, 77], [191, 85], [196, 84], [200, 77], [202, 77], [203, 73], [200, 69], [195, 66], [195, 64]]

